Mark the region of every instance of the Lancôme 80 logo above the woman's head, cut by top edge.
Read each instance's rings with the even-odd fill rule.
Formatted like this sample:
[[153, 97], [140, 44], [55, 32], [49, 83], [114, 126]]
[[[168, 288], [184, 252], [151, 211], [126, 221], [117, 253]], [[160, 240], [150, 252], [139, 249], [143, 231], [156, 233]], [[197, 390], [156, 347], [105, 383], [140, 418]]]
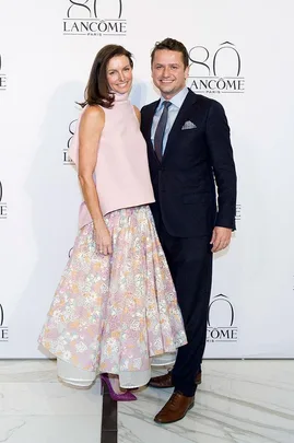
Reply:
[[122, 0], [69, 0], [63, 35], [127, 35], [127, 21], [122, 13]]

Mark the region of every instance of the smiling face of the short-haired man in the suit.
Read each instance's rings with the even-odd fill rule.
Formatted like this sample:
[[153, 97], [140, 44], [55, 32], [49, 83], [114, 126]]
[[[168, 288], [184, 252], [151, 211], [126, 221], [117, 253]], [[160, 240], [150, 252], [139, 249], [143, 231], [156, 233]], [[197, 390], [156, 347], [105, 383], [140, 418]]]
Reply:
[[152, 79], [164, 98], [172, 98], [185, 88], [188, 73], [189, 67], [185, 68], [181, 53], [169, 49], [155, 51]]

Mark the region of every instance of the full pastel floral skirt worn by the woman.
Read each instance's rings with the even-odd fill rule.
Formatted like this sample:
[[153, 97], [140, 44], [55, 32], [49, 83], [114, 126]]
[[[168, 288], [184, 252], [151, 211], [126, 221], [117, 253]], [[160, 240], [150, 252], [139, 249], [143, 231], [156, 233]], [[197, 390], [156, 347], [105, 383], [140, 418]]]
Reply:
[[92, 223], [79, 231], [39, 342], [75, 368], [138, 386], [149, 382], [152, 357], [167, 363], [187, 339], [149, 206], [105, 222], [113, 254], [99, 254]]

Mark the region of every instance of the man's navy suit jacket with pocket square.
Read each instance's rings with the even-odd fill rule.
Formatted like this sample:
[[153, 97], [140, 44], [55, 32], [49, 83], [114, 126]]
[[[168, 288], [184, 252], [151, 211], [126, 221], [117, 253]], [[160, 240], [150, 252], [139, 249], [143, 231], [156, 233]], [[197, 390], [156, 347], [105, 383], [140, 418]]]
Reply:
[[[160, 162], [151, 142], [158, 103], [141, 109], [156, 200], [151, 205], [155, 223], [162, 220], [167, 232], [178, 237], [211, 235], [215, 225], [235, 230], [236, 171], [222, 105], [189, 90]], [[186, 121], [196, 127], [184, 129]]]

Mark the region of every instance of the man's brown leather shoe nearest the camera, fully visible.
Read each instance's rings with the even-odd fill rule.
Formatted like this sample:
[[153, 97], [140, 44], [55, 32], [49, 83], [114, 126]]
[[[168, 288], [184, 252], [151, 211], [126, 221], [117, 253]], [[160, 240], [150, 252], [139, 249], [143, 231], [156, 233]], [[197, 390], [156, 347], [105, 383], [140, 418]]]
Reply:
[[186, 397], [176, 390], [162, 410], [155, 416], [156, 423], [167, 424], [181, 420], [189, 409], [193, 407], [195, 397]]

